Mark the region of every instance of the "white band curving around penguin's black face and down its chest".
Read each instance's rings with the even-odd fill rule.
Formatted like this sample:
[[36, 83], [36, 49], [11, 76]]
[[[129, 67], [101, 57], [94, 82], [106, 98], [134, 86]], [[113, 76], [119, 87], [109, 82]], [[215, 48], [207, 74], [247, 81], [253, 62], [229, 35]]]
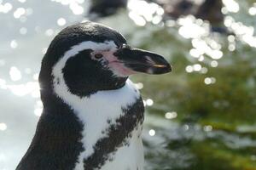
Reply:
[[[72, 94], [64, 80], [62, 69], [66, 64], [67, 59], [79, 54], [79, 51], [87, 48], [112, 51], [116, 49], [116, 45], [113, 42], [81, 42], [68, 50], [54, 65], [52, 71], [55, 94], [73, 109], [76, 116], [78, 116], [79, 120], [84, 124], [84, 130], [81, 132], [83, 136], [81, 142], [83, 143], [85, 150], [80, 153], [79, 162], [76, 164], [76, 167], [74, 168], [75, 170], [84, 169], [84, 158], [93, 154], [93, 147], [96, 142], [108, 135], [108, 133], [102, 134], [102, 131], [108, 129], [108, 120], [115, 121], [118, 119], [119, 116], [122, 116], [123, 114], [122, 108], [125, 108], [127, 105], [132, 105], [140, 96], [130, 80], [126, 81], [123, 88], [98, 91], [96, 94], [90, 95], [90, 98], [80, 98], [79, 96]], [[132, 141], [133, 139], [131, 140], [132, 148], [142, 146], [141, 142]], [[134, 150], [134, 154], [137, 155], [137, 150], [132, 150]], [[143, 156], [143, 150], [141, 155]], [[135, 161], [132, 161], [132, 163], [133, 162]], [[104, 169], [108, 170], [109, 168], [106, 167]]]

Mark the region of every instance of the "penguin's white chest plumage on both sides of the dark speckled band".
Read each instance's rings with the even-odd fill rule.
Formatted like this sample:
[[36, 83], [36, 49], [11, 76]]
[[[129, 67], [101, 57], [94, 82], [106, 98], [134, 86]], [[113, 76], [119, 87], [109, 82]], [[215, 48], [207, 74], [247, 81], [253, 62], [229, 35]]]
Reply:
[[[90, 98], [79, 98], [70, 92], [55, 87], [55, 93], [64, 100], [67, 105], [73, 108], [79, 120], [84, 124], [82, 132], [82, 143], [84, 151], [79, 155], [79, 162], [75, 170], [84, 170], [84, 159], [94, 153], [94, 146], [99, 139], [108, 136], [110, 124], [115, 123], [123, 110], [128, 105], [134, 104], [139, 99], [140, 94], [130, 80], [127, 80], [123, 88], [110, 91], [100, 91], [90, 95]], [[102, 170], [110, 169], [143, 169], [143, 144], [138, 138], [141, 127], [131, 132], [131, 137], [127, 139], [129, 145], [119, 147], [111, 161], [106, 161]]]

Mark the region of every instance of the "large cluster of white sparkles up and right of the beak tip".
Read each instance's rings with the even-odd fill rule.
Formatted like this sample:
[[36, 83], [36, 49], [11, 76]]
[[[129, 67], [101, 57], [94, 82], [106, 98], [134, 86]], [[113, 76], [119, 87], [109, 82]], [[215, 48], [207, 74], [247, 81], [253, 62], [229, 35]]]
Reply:
[[[203, 20], [195, 19], [194, 16], [188, 15], [177, 20], [177, 24], [180, 26], [178, 33], [184, 38], [192, 39], [192, 46], [189, 50], [189, 54], [198, 59], [204, 61], [205, 56], [209, 56], [212, 59], [221, 59], [223, 52], [221, 51], [221, 44], [218, 40], [210, 34], [210, 26]], [[231, 25], [231, 22], [230, 22]], [[213, 62], [213, 65], [216, 64]], [[215, 65], [214, 65], [215, 66]], [[207, 70], [202, 70], [201, 65], [187, 65], [187, 72], [200, 71], [205, 74]]]

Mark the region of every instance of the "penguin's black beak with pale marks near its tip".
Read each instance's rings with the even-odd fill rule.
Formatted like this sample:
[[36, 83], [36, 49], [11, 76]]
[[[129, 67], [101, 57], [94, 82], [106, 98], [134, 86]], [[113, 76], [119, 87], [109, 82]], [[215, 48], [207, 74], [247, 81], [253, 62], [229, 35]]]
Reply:
[[165, 74], [172, 71], [171, 65], [159, 54], [154, 54], [143, 49], [122, 47], [114, 54], [119, 62], [131, 71], [148, 74]]

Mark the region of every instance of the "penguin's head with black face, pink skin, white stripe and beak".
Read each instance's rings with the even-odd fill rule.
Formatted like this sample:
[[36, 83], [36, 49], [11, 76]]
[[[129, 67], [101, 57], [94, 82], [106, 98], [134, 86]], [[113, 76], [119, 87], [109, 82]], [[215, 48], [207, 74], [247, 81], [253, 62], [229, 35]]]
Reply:
[[55, 88], [84, 97], [121, 88], [137, 72], [169, 71], [171, 66], [162, 56], [131, 48], [118, 31], [86, 21], [68, 26], [50, 43], [39, 82], [41, 94]]

